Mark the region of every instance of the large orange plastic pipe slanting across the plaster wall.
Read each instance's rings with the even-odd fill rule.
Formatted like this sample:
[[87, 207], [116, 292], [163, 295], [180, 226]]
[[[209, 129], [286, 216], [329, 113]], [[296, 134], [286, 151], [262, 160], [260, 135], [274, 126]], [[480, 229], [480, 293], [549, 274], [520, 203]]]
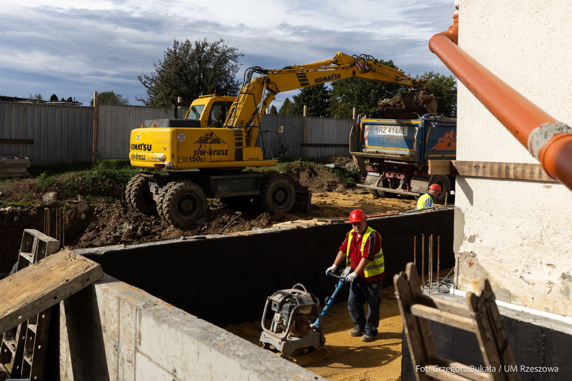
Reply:
[[536, 157], [542, 168], [572, 190], [572, 128], [557, 122], [457, 45], [459, 15], [435, 34], [429, 49], [468, 90]]

